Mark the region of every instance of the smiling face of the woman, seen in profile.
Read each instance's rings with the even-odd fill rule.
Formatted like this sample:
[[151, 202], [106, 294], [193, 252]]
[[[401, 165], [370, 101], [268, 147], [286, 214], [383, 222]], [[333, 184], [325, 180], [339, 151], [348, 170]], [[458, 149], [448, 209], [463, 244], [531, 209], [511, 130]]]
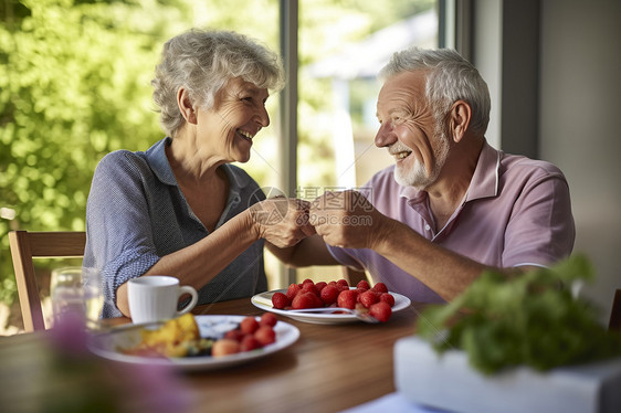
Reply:
[[231, 78], [217, 94], [210, 109], [199, 109], [198, 137], [206, 150], [215, 151], [227, 162], [246, 162], [252, 139], [270, 125], [266, 88], [241, 77]]

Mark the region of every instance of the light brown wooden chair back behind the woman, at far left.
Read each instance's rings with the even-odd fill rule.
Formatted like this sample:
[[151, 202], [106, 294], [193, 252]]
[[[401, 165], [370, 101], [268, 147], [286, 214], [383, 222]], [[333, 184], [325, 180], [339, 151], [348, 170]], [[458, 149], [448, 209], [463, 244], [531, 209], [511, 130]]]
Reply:
[[11, 231], [9, 244], [24, 329], [25, 331], [44, 330], [45, 322], [32, 260], [82, 257], [86, 245], [86, 233]]

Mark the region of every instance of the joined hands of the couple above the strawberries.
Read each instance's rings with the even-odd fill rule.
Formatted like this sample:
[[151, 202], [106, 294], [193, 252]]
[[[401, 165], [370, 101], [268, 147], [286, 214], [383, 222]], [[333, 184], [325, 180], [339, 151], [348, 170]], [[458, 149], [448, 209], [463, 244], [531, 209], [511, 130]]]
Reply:
[[251, 206], [261, 237], [284, 248], [318, 234], [329, 245], [372, 247], [373, 231], [386, 216], [358, 191], [326, 192], [313, 202], [271, 198]]

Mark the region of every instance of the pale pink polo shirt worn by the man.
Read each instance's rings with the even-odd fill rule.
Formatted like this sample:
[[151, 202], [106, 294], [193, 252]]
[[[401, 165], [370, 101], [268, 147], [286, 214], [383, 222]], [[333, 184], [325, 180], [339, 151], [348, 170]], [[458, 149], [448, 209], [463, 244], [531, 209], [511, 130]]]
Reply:
[[[546, 266], [571, 253], [576, 230], [569, 187], [549, 162], [507, 155], [485, 142], [465, 201], [439, 232], [433, 230], [427, 192], [399, 186], [393, 169], [376, 173], [360, 192], [378, 211], [434, 244], [497, 267]], [[443, 301], [371, 250], [328, 248], [338, 262], [367, 269], [373, 283], [382, 282], [391, 292], [420, 303]]]

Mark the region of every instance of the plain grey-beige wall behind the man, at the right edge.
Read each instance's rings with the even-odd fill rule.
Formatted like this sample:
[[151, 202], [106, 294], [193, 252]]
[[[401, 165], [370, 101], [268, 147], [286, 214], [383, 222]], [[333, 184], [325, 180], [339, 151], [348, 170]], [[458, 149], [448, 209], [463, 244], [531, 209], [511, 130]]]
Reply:
[[621, 1], [540, 2], [539, 156], [569, 181], [585, 289], [608, 320], [621, 288]]

